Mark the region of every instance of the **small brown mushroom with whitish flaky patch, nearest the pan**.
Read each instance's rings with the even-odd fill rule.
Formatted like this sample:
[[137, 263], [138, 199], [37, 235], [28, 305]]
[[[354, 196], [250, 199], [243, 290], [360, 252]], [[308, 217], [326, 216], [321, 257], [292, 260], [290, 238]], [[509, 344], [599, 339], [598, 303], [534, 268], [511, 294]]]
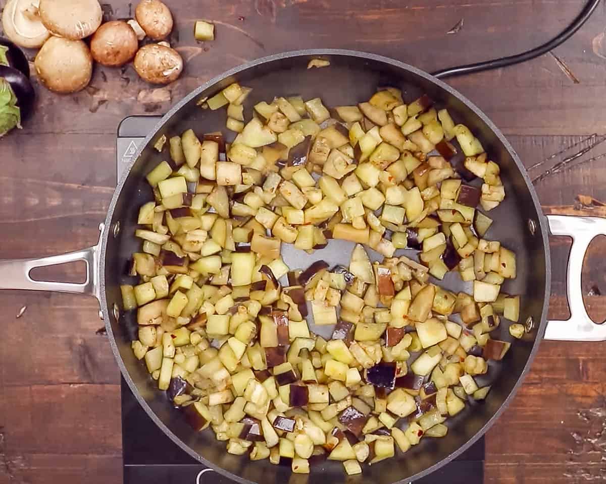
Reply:
[[147, 82], [168, 84], [181, 75], [183, 59], [173, 48], [147, 44], [135, 56], [135, 70]]

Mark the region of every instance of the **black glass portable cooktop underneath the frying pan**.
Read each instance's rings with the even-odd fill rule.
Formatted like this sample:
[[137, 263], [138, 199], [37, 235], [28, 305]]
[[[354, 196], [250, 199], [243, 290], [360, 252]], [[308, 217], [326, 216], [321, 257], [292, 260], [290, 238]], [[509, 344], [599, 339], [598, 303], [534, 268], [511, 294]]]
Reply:
[[[118, 177], [158, 116], [127, 117], [118, 128]], [[228, 484], [230, 479], [188, 456], [153, 423], [122, 379], [122, 448], [125, 484]], [[482, 484], [484, 482], [484, 438], [458, 459], [419, 484]]]

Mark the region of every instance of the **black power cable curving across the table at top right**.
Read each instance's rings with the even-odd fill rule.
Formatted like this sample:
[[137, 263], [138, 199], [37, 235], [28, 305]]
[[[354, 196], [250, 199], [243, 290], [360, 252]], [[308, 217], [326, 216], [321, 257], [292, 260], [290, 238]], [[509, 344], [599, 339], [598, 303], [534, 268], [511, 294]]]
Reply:
[[476, 62], [475, 64], [461, 65], [458, 67], [449, 67], [431, 73], [436, 77], [450, 77], [450, 76], [461, 76], [462, 74], [472, 74], [481, 71], [488, 71], [491, 69], [497, 69], [499, 67], [507, 67], [508, 65], [519, 64], [526, 62], [527, 60], [534, 59], [534, 57], [542, 56], [543, 54], [558, 47], [567, 41], [582, 25], [587, 22], [593, 11], [598, 7], [600, 0], [589, 0], [581, 13], [574, 19], [574, 21], [562, 30], [558, 36], [554, 37], [548, 42], [545, 42], [539, 47], [535, 47], [531, 50], [522, 52], [521, 54], [515, 54], [514, 56], [501, 57], [499, 59], [485, 60], [484, 62]]

